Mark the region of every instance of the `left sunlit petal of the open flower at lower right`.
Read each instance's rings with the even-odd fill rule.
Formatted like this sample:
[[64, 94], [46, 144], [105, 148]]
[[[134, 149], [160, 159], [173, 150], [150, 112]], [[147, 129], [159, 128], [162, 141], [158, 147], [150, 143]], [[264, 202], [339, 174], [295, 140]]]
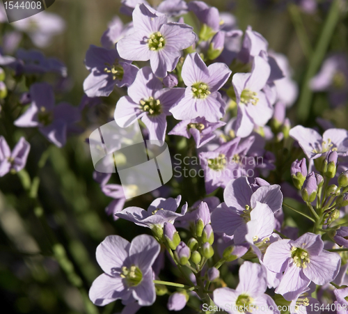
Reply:
[[264, 265], [272, 272], [284, 272], [290, 260], [290, 240], [280, 240], [272, 243], [264, 254]]

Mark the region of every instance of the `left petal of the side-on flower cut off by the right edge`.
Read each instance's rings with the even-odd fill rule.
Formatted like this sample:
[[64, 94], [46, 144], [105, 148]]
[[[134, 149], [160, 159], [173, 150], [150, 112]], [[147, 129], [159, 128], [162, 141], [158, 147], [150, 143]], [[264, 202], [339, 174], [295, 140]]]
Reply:
[[315, 159], [321, 156], [321, 154], [317, 152], [322, 151], [323, 139], [315, 129], [296, 125], [296, 127], [290, 129], [289, 134], [292, 139], [299, 142], [299, 146], [301, 146], [303, 152], [308, 158]]

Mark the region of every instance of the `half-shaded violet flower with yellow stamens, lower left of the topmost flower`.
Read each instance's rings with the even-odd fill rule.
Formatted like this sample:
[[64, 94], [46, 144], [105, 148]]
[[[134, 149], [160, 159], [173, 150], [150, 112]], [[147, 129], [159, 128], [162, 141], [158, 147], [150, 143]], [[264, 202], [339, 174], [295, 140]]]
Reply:
[[84, 92], [88, 97], [109, 96], [115, 86], [130, 86], [138, 68], [118, 55], [116, 49], [105, 49], [90, 45], [85, 59], [90, 74], [84, 81]]

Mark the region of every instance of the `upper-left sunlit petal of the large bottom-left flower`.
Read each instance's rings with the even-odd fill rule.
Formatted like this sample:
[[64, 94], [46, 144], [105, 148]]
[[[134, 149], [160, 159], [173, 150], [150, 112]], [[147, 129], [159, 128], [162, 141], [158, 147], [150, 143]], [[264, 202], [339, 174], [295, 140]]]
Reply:
[[119, 235], [109, 235], [97, 246], [95, 256], [103, 271], [110, 276], [120, 272], [128, 256], [129, 242]]

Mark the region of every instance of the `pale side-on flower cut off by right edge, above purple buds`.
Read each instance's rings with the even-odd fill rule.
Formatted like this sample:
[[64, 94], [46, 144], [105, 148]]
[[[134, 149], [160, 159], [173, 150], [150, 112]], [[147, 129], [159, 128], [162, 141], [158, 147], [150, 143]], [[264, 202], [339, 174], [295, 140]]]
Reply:
[[296, 125], [289, 132], [292, 139], [299, 142], [309, 159], [326, 155], [329, 150], [336, 150], [339, 156], [348, 155], [348, 131], [346, 129], [327, 129], [321, 136], [315, 129]]

